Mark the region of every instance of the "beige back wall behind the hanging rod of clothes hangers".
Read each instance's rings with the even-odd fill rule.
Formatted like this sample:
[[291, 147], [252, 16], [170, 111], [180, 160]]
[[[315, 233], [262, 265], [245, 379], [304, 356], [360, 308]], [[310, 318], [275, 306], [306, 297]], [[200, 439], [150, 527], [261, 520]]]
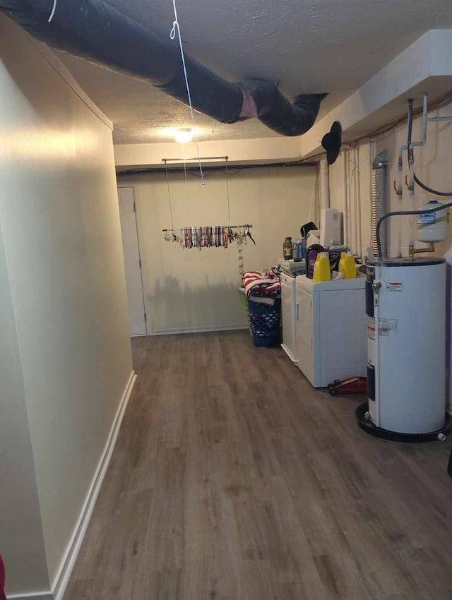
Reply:
[[[263, 270], [282, 257], [285, 236], [316, 215], [316, 167], [230, 169], [232, 224], [253, 224], [256, 246], [244, 246], [245, 270]], [[246, 327], [237, 244], [189, 251], [163, 239], [171, 227], [165, 173], [119, 185], [135, 189], [148, 326], [153, 333]], [[206, 187], [194, 174], [169, 172], [174, 227], [228, 222], [224, 172], [207, 171]]]

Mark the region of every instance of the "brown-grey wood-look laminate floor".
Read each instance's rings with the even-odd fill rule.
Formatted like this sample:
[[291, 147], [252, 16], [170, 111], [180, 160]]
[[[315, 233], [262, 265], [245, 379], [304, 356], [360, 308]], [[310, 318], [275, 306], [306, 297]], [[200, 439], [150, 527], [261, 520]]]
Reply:
[[248, 332], [133, 340], [65, 600], [451, 600], [451, 444], [357, 428]]

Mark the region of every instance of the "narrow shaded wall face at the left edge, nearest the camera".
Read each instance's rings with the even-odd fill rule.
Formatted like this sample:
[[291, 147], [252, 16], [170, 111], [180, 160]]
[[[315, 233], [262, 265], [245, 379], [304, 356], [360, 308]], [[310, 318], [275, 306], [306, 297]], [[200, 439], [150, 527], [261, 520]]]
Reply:
[[[20, 365], [16, 320], [0, 229], [0, 553], [9, 581], [18, 584], [27, 569], [25, 592], [49, 589], [44, 537], [37, 498]], [[9, 589], [14, 589], [9, 587]]]

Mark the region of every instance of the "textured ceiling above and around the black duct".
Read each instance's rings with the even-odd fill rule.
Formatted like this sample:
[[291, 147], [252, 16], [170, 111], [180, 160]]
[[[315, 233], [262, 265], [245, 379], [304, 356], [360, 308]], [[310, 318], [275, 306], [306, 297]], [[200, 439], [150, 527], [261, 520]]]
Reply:
[[[172, 0], [107, 0], [169, 37]], [[177, 0], [185, 51], [230, 80], [280, 82], [289, 97], [331, 92], [322, 112], [359, 88], [429, 29], [451, 28], [451, 0]], [[171, 141], [189, 110], [151, 85], [59, 53], [114, 123], [115, 143]], [[225, 125], [195, 114], [199, 140], [277, 134], [256, 119]]]

